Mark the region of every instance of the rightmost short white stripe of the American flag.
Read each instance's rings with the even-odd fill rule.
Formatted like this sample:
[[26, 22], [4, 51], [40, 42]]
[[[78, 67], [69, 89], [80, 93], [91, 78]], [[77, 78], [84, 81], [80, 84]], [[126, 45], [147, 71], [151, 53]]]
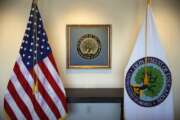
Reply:
[[47, 68], [49, 69], [49, 72], [51, 73], [52, 77], [54, 78], [56, 84], [59, 86], [59, 88], [61, 89], [61, 91], [64, 93], [65, 95], [65, 90], [64, 90], [64, 86], [62, 83], [61, 78], [59, 77], [59, 74], [57, 73], [56, 69], [54, 68], [53, 64], [51, 63], [51, 61], [49, 60], [48, 57], [46, 57], [43, 60], [44, 64], [47, 66]]

